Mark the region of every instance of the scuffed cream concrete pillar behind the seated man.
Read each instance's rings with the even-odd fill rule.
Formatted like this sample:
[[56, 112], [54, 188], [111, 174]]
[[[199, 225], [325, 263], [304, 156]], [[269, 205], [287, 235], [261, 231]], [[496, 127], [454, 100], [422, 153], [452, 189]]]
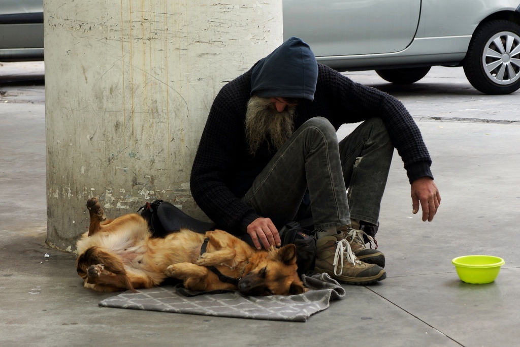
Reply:
[[281, 1], [44, 0], [47, 242], [74, 250], [86, 200], [110, 217], [190, 194], [219, 89], [282, 42]]

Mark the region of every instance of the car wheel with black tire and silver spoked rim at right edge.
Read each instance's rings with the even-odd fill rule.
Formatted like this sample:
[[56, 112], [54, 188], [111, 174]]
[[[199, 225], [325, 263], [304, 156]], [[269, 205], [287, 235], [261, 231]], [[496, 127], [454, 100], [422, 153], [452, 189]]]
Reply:
[[478, 28], [464, 58], [471, 85], [485, 94], [510, 94], [520, 88], [520, 25], [495, 20]]

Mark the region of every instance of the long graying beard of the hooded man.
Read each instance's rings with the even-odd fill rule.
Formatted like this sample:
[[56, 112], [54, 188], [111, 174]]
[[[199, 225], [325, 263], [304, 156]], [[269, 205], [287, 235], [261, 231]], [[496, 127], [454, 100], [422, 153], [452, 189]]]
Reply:
[[251, 155], [255, 155], [265, 140], [269, 146], [272, 145], [279, 150], [293, 133], [295, 112], [296, 106], [278, 112], [269, 98], [253, 95], [248, 101], [245, 113], [245, 138]]

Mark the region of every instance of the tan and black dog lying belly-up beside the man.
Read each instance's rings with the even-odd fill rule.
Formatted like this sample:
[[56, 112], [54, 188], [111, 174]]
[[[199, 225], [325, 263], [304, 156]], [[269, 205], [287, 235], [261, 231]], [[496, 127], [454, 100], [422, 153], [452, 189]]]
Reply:
[[[137, 213], [106, 220], [97, 198], [87, 201], [88, 233], [77, 241], [77, 273], [85, 288], [123, 291], [158, 286], [167, 277], [196, 291], [240, 290], [245, 295], [291, 295], [305, 292], [296, 273], [296, 247], [258, 251], [223, 230], [205, 234], [181, 229], [152, 238], [147, 221]], [[206, 251], [201, 254], [205, 239]], [[239, 279], [223, 282], [208, 267]]]

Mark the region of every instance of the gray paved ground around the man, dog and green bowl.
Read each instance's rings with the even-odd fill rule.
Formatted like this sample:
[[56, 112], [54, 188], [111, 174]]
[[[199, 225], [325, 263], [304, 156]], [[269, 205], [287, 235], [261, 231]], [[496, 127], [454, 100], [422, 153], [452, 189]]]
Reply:
[[[27, 74], [43, 74], [43, 63], [30, 64]], [[2, 82], [17, 74], [11, 67], [0, 66], [0, 345], [518, 345], [520, 92], [482, 95], [460, 68], [434, 68], [408, 87], [347, 73], [416, 117], [442, 203], [432, 223], [412, 215], [396, 155], [378, 234], [388, 278], [346, 286], [307, 323], [282, 323], [98, 307], [110, 294], [84, 289], [74, 255], [45, 245], [44, 87]], [[451, 259], [476, 253], [505, 259], [492, 284], [458, 279]]]

